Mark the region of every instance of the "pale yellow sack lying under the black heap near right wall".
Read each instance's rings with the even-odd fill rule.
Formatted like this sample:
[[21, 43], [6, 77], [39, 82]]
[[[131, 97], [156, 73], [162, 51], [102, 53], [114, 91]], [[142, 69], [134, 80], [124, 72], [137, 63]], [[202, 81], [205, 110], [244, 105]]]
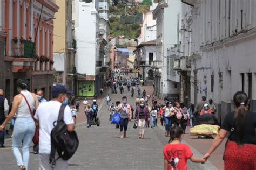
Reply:
[[220, 126], [218, 125], [197, 125], [190, 129], [190, 136], [199, 136], [199, 135], [215, 135], [218, 134]]

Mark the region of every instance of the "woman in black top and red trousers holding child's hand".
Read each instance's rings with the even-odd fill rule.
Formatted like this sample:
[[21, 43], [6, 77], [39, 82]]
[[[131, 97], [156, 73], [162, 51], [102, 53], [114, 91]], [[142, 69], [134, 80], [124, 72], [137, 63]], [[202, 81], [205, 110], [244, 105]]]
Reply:
[[228, 113], [212, 146], [204, 155], [208, 159], [229, 134], [224, 151], [224, 169], [256, 169], [256, 113], [248, 110], [250, 100], [246, 93], [234, 94], [235, 110]]

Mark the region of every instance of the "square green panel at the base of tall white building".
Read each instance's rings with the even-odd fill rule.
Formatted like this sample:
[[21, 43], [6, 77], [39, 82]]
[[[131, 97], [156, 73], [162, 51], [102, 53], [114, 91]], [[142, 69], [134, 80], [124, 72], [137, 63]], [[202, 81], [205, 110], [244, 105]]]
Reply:
[[93, 96], [94, 81], [78, 81], [78, 96]]

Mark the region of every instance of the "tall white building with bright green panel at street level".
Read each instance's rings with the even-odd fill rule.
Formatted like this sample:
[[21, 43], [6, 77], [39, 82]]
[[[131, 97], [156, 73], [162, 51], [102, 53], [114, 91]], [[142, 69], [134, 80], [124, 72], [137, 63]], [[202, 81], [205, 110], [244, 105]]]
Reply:
[[[73, 15], [75, 20], [75, 34], [77, 40], [76, 68], [77, 95], [93, 96], [99, 93], [104, 84], [104, 65], [102, 56], [105, 47], [102, 46], [98, 13], [98, 0], [76, 0], [73, 2]], [[103, 42], [107, 44], [106, 41]]]

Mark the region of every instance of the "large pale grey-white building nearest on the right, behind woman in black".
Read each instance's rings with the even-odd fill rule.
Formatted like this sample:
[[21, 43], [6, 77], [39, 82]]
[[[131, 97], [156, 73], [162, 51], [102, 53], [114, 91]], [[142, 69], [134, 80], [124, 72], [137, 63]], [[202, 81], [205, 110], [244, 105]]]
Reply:
[[223, 117], [232, 110], [233, 95], [245, 91], [251, 110], [256, 111], [256, 2], [194, 2], [191, 102], [197, 103], [203, 95], [212, 98]]

